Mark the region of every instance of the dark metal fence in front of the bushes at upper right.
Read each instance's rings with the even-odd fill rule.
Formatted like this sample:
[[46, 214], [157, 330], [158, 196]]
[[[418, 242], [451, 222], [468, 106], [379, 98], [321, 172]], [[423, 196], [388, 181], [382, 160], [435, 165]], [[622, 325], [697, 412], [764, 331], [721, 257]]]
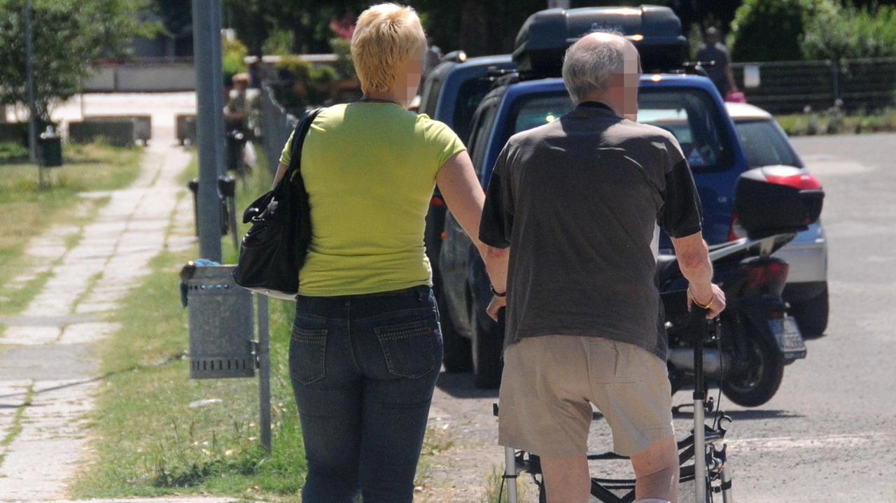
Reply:
[[[806, 107], [825, 110], [838, 103], [847, 110], [896, 106], [896, 58], [731, 66], [747, 100], [773, 114], [802, 112]], [[745, 86], [745, 74], [750, 73], [758, 76], [757, 87]]]

